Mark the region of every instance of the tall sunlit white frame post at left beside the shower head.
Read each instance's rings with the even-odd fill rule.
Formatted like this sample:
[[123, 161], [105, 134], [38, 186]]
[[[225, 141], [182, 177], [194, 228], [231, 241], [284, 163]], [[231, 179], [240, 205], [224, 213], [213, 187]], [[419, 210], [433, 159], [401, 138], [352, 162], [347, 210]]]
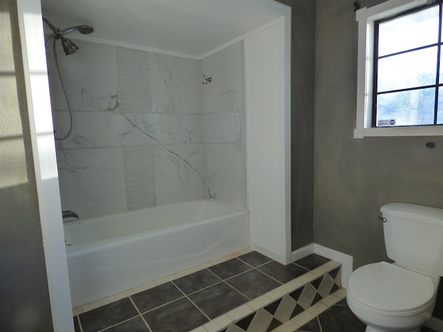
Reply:
[[46, 275], [55, 332], [73, 332], [40, 0], [17, 0]]

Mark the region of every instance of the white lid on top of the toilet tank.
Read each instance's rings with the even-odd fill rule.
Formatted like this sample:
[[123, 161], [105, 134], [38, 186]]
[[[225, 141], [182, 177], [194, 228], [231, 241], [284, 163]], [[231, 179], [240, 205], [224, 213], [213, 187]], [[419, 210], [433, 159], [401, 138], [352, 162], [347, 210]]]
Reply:
[[383, 205], [380, 211], [383, 216], [397, 216], [443, 227], [443, 209], [408, 203], [390, 203]]

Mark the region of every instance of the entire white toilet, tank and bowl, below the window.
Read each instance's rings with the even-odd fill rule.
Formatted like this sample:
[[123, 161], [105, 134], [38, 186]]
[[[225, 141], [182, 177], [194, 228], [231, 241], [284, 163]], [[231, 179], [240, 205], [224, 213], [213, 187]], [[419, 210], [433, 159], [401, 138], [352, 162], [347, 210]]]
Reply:
[[443, 276], [443, 210], [390, 203], [380, 209], [388, 257], [350, 276], [347, 304], [366, 332], [419, 332]]

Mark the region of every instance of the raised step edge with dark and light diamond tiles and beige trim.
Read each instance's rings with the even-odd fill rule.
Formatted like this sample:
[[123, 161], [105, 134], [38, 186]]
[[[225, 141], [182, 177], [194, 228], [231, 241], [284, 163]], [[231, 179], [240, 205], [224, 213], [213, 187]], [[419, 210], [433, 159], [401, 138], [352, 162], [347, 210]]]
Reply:
[[343, 291], [341, 264], [329, 261], [192, 332], [295, 331], [290, 329], [301, 326], [296, 321], [314, 319], [315, 315], [309, 311], [320, 313], [321, 309], [326, 310], [328, 302], [341, 299], [337, 296], [329, 299], [331, 294], [343, 296]]

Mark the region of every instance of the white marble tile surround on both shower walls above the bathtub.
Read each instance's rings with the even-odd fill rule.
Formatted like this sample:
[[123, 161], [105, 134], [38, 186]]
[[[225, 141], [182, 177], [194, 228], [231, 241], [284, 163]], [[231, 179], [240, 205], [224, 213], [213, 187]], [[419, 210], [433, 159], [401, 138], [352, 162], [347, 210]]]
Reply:
[[[63, 210], [86, 218], [202, 197], [246, 208], [243, 42], [203, 60], [75, 43], [58, 52], [73, 110], [71, 137], [57, 141]], [[69, 113], [51, 49], [48, 71], [61, 135]]]

